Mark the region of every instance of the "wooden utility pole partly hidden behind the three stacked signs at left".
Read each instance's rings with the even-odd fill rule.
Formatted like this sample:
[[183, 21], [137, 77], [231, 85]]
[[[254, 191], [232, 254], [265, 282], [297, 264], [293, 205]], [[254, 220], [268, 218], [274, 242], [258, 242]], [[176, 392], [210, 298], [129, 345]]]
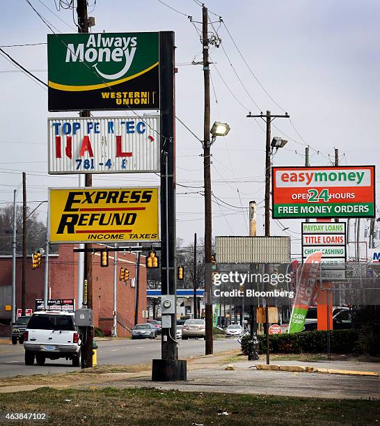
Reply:
[[[77, 0], [77, 15], [78, 15], [78, 33], [88, 33], [88, 14], [87, 14], [87, 0]], [[90, 111], [80, 111], [79, 116], [81, 117], [90, 117]], [[79, 177], [79, 184], [82, 180]], [[85, 175], [85, 186], [93, 186], [93, 175], [90, 173]], [[85, 244], [86, 249], [90, 249], [92, 244]], [[79, 257], [78, 257], [79, 260]], [[87, 308], [93, 308], [93, 253], [86, 251], [84, 253], [84, 280], [87, 281]], [[84, 283], [82, 283], [84, 285]], [[91, 368], [93, 366], [93, 329], [90, 327], [87, 328], [86, 340], [84, 344], [84, 364], [86, 368]]]

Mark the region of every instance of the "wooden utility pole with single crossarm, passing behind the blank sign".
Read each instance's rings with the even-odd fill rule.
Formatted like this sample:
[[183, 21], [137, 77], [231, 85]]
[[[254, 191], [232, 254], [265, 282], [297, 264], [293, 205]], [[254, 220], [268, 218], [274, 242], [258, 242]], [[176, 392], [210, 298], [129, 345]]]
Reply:
[[[271, 193], [271, 122], [275, 118], [290, 118], [285, 112], [284, 115], [271, 115], [271, 111], [267, 110], [267, 114], [260, 113], [260, 116], [252, 116], [248, 114], [248, 118], [262, 118], [266, 122], [267, 132], [265, 139], [265, 237], [270, 237], [270, 193]], [[268, 265], [265, 265], [267, 268]], [[267, 272], [267, 271], [266, 271]], [[269, 309], [268, 303], [265, 303], [265, 334], [267, 336], [267, 364], [269, 364]]]

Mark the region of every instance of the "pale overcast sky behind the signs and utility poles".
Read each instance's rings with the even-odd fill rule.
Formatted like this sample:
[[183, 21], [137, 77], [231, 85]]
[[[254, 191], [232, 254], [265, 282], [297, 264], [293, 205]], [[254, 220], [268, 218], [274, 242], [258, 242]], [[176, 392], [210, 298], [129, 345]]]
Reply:
[[[56, 33], [77, 31], [72, 10], [57, 10], [58, 0], [30, 1]], [[200, 2], [164, 3], [90, 0], [88, 10], [96, 19], [94, 33], [175, 31], [176, 114], [202, 139], [203, 70], [201, 65], [191, 65], [192, 61], [201, 61]], [[221, 38], [221, 47], [210, 49], [211, 119], [212, 123], [228, 123], [231, 128], [228, 136], [216, 139], [212, 145], [212, 233], [248, 235], [248, 203], [255, 200], [258, 235], [263, 235], [264, 122], [246, 118], [250, 111], [290, 114], [290, 119], [273, 122], [272, 136], [288, 140], [285, 148], [274, 155], [274, 166], [303, 166], [306, 145], [310, 145], [312, 166], [331, 165], [334, 148], [339, 149], [342, 165], [379, 165], [380, 3], [209, 0], [206, 6], [214, 22], [209, 34]], [[0, 33], [1, 46], [38, 43], [2, 48], [47, 81], [44, 43], [52, 31], [26, 1], [2, 5]], [[47, 117], [75, 114], [49, 113], [46, 88], [19, 72], [3, 56], [0, 91], [0, 206], [12, 202], [13, 190], [20, 188], [25, 171], [32, 210], [47, 200], [48, 187], [78, 184], [75, 175], [47, 174]], [[176, 145], [177, 237], [187, 244], [194, 232], [198, 239], [204, 233], [203, 150], [179, 122]], [[158, 182], [148, 173], [93, 176], [93, 185], [99, 187]], [[22, 191], [18, 191], [17, 202], [21, 200]], [[46, 221], [47, 203], [38, 207], [38, 214]], [[362, 223], [363, 232], [368, 221]], [[271, 235], [290, 235], [292, 253], [294, 257], [299, 255], [301, 221], [271, 220]]]

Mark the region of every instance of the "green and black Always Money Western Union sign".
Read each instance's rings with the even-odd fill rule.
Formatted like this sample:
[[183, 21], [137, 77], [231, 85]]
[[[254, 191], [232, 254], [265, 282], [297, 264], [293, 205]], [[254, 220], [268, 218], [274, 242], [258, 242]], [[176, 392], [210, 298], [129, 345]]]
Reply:
[[48, 34], [49, 111], [159, 109], [159, 33]]

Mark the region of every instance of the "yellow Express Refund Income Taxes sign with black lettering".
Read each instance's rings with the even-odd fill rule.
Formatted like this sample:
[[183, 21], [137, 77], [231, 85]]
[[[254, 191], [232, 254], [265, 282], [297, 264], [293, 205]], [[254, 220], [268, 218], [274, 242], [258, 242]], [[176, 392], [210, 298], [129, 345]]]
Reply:
[[159, 189], [49, 189], [49, 241], [159, 240]]

